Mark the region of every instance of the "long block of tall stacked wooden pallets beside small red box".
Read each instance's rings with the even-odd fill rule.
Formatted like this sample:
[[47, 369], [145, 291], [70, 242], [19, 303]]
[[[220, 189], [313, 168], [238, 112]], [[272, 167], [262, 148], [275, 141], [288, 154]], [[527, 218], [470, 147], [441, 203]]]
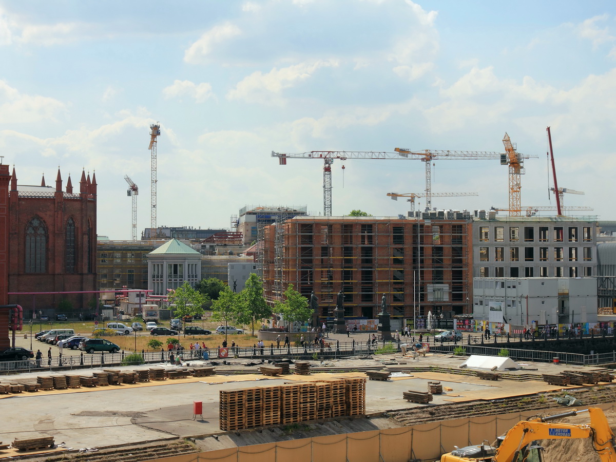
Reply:
[[270, 387], [221, 390], [225, 431], [365, 413], [366, 379], [294, 382]]

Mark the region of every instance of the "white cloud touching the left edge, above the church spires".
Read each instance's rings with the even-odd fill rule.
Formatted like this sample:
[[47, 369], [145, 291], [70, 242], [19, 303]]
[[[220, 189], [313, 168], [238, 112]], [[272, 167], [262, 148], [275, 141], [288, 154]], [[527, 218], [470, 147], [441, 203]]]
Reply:
[[65, 110], [64, 103], [57, 99], [21, 94], [17, 89], [0, 80], [0, 122], [2, 123], [56, 120], [58, 113]]

